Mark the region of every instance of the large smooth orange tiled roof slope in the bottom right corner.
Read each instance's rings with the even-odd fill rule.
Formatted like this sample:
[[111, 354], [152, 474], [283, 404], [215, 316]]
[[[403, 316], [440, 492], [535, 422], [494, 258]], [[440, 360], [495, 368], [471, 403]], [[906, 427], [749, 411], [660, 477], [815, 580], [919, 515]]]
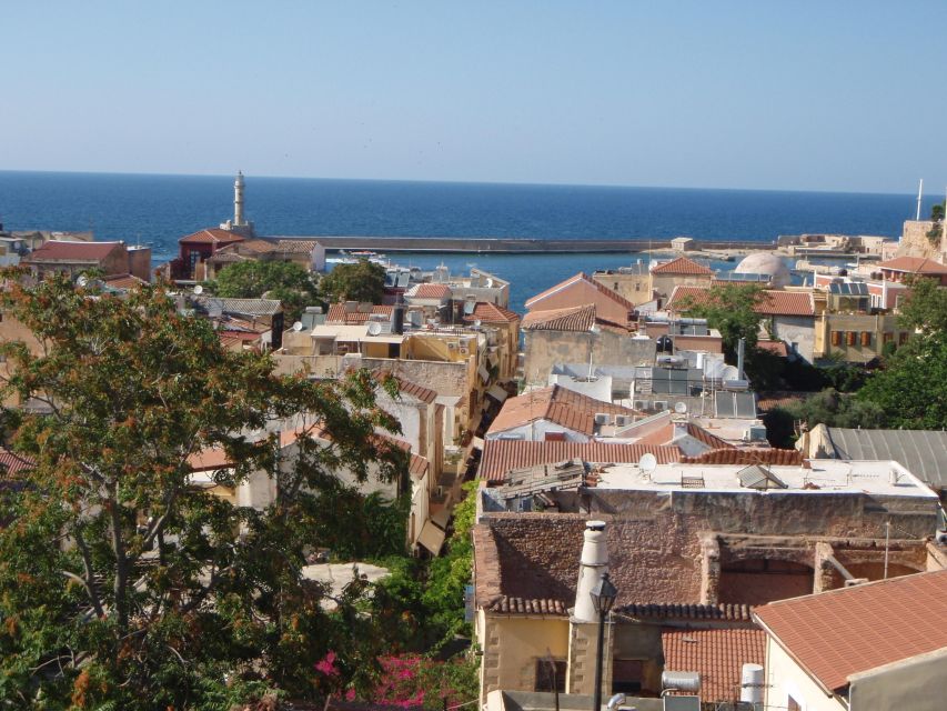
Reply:
[[823, 687], [947, 647], [947, 570], [782, 600], [754, 617]]

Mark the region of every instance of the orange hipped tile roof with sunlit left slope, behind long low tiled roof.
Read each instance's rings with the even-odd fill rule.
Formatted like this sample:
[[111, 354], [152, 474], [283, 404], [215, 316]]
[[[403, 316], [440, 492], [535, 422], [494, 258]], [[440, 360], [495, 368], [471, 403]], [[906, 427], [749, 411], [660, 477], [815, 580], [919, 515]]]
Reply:
[[503, 432], [535, 420], [550, 420], [591, 437], [595, 432], [594, 419], [597, 412], [638, 414], [628, 408], [596, 400], [562, 385], [550, 385], [510, 398], [503, 403], [487, 433]]

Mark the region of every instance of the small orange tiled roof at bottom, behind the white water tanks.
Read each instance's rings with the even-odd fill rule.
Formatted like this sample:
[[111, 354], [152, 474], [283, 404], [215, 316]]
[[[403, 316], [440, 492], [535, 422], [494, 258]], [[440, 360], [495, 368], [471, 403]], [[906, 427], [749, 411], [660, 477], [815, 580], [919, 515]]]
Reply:
[[766, 633], [763, 630], [661, 631], [664, 668], [701, 674], [703, 701], [737, 701], [746, 663], [763, 664]]

